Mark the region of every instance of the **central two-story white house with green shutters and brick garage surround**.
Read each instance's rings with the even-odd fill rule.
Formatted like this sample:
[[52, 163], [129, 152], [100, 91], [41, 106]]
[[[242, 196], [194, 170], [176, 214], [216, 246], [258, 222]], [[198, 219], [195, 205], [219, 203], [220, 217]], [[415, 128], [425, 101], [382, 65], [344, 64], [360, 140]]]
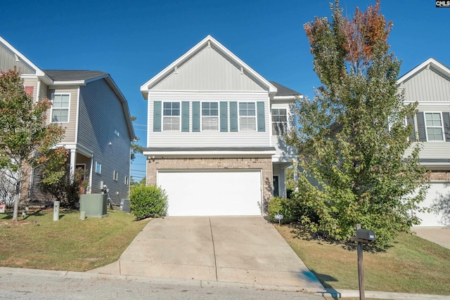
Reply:
[[211, 36], [141, 86], [147, 184], [169, 216], [262, 215], [285, 196], [295, 157], [282, 140], [300, 93], [267, 81]]

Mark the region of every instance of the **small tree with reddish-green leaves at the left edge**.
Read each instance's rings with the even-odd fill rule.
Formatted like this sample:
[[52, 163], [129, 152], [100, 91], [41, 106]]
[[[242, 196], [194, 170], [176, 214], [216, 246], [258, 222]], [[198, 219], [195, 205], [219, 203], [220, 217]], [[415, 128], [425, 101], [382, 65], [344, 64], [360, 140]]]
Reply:
[[48, 98], [34, 102], [25, 93], [19, 72], [0, 72], [0, 168], [14, 179], [13, 221], [17, 221], [23, 179], [32, 169], [53, 160], [51, 148], [64, 135], [60, 125], [46, 124], [50, 107]]

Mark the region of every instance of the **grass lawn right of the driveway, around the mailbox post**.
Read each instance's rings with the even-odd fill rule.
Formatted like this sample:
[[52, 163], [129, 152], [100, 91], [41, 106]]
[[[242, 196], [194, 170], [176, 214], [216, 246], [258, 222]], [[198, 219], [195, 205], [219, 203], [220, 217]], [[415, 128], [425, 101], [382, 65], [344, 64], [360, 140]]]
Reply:
[[[305, 240], [297, 228], [274, 226], [324, 287], [359, 289], [352, 245]], [[363, 256], [366, 291], [450, 295], [450, 250], [438, 244], [404, 233], [385, 252]]]

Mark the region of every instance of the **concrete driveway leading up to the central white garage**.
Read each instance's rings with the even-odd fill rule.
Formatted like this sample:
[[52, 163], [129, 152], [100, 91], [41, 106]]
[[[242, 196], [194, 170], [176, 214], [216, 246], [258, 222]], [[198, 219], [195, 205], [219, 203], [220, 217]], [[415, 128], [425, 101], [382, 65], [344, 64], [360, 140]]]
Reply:
[[323, 289], [262, 216], [153, 219], [119, 261], [89, 272]]

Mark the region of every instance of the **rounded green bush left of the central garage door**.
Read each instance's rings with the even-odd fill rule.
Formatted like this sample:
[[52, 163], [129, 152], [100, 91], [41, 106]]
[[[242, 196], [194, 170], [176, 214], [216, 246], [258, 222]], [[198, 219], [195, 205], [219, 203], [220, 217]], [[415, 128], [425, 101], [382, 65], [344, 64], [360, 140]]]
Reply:
[[136, 220], [160, 218], [167, 214], [167, 194], [157, 185], [132, 187], [129, 202]]

